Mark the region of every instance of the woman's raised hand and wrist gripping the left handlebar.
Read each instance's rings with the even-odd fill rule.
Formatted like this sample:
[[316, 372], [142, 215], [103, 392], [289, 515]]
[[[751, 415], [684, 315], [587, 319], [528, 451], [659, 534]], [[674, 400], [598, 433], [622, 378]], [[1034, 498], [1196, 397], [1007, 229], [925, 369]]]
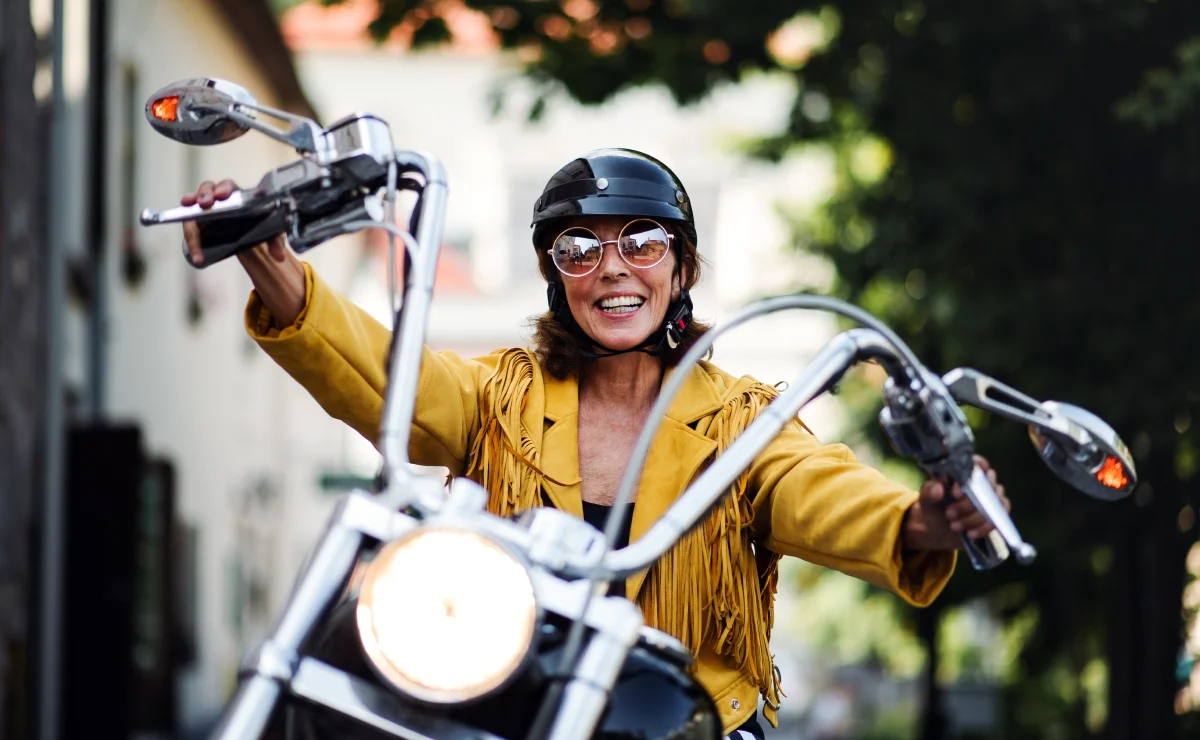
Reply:
[[[233, 180], [222, 180], [217, 184], [205, 181], [194, 193], [180, 198], [179, 203], [185, 206], [199, 205], [208, 210], [236, 191], [238, 184]], [[193, 221], [184, 222], [184, 243], [187, 246], [187, 257], [192, 265], [204, 264], [200, 229]], [[287, 236], [276, 234], [265, 242], [240, 252], [238, 261], [250, 276], [263, 305], [271, 312], [275, 326], [284, 329], [295, 324], [304, 312], [307, 289], [304, 265], [288, 247]]]

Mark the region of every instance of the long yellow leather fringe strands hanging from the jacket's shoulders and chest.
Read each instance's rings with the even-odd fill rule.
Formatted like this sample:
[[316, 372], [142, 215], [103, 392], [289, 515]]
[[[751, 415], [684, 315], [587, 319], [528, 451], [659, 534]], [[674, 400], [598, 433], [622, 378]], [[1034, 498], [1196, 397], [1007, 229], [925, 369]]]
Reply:
[[[488, 510], [500, 516], [541, 505], [545, 474], [521, 419], [535, 371], [527, 350], [508, 350], [480, 393], [480, 433], [467, 475], [488, 491]], [[716, 443], [716, 453], [776, 395], [768, 385], [754, 384], [731, 398], [704, 432]], [[731, 495], [650, 568], [637, 604], [646, 624], [673, 634], [694, 655], [709, 645], [748, 670], [774, 716], [782, 696], [769, 645], [780, 556], [754, 547], [748, 477], [743, 473]]]

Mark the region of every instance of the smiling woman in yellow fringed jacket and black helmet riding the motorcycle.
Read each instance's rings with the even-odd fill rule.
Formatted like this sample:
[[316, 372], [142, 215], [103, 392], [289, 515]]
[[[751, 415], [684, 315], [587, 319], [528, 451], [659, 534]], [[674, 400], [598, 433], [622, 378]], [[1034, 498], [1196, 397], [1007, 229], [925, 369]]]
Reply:
[[[234, 188], [206, 182], [182, 203], [210, 206]], [[494, 513], [554, 506], [599, 523], [665, 374], [707, 329], [689, 296], [701, 270], [691, 203], [658, 160], [598, 150], [551, 178], [533, 227], [550, 308], [535, 320], [533, 347], [469, 360], [426, 350], [410, 456], [479, 481]], [[202, 259], [194, 227], [188, 247]], [[240, 259], [254, 283], [250, 335], [329, 414], [376, 440], [389, 331], [282, 236]], [[646, 533], [774, 396], [715, 365], [694, 368], [650, 450], [625, 541]], [[958, 533], [988, 531], [956, 488], [929, 481], [908, 491], [797, 420], [701, 527], [614, 588], [692, 650], [725, 732], [761, 738], [760, 697], [773, 724], [780, 700], [768, 640], [781, 555], [925, 606], [954, 570]]]

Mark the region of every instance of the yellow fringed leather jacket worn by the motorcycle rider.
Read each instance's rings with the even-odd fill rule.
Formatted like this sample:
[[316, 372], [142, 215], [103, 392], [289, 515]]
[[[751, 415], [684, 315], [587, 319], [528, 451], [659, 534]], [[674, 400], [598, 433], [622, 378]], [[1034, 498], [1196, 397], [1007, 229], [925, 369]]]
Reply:
[[[325, 285], [306, 264], [307, 302], [293, 326], [274, 329], [256, 294], [246, 329], [334, 417], [378, 439], [391, 335]], [[691, 371], [659, 431], [638, 487], [630, 541], [649, 529], [774, 389], [704, 362]], [[496, 513], [552, 505], [583, 516], [578, 475], [578, 386], [544, 373], [523, 349], [466, 360], [426, 350], [410, 456], [484, 485]], [[835, 568], [929, 604], [955, 555], [901, 553], [900, 528], [917, 494], [822, 445], [799, 422], [758, 456], [709, 519], [647, 573], [626, 582], [647, 624], [696, 655], [725, 732], [780, 691], [768, 639], [780, 555]]]

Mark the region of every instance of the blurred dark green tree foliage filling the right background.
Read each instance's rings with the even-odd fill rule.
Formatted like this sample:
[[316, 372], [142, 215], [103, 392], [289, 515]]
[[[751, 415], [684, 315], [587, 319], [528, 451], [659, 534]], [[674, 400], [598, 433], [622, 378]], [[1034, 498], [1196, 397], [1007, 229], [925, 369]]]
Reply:
[[[786, 127], [752, 154], [838, 151], [835, 198], [797, 219], [798, 246], [833, 260], [838, 291], [931, 367], [974, 366], [1096, 410], [1136, 458], [1130, 500], [1085, 500], [1019, 431], [977, 417], [979, 449], [1040, 551], [1031, 567], [964, 573], [946, 598], [1036, 616], [1006, 736], [1198, 732], [1196, 714], [1174, 706], [1200, 463], [1190, 4], [463, 1], [545, 96], [599, 103], [659, 84], [686, 104], [748, 72], [794, 76]], [[445, 2], [380, 0], [371, 30], [438, 42]], [[929, 643], [937, 613], [918, 618]], [[941, 736], [934, 710], [929, 738]]]

